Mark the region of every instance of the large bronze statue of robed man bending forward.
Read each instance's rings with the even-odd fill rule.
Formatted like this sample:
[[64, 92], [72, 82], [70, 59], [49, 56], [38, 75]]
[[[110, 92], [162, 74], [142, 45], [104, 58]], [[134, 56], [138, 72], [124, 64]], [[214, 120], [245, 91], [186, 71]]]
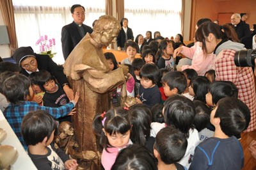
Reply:
[[[80, 95], [77, 113], [72, 121], [81, 151], [95, 151], [98, 154], [99, 148], [92, 130], [93, 117], [96, 113], [110, 109], [109, 91], [125, 82], [125, 69], [110, 71], [102, 52], [102, 47], [108, 46], [120, 29], [114, 17], [101, 16], [93, 26], [93, 33], [84, 36], [64, 64], [64, 72], [72, 89]], [[123, 89], [122, 96], [125, 97], [125, 85]]]

